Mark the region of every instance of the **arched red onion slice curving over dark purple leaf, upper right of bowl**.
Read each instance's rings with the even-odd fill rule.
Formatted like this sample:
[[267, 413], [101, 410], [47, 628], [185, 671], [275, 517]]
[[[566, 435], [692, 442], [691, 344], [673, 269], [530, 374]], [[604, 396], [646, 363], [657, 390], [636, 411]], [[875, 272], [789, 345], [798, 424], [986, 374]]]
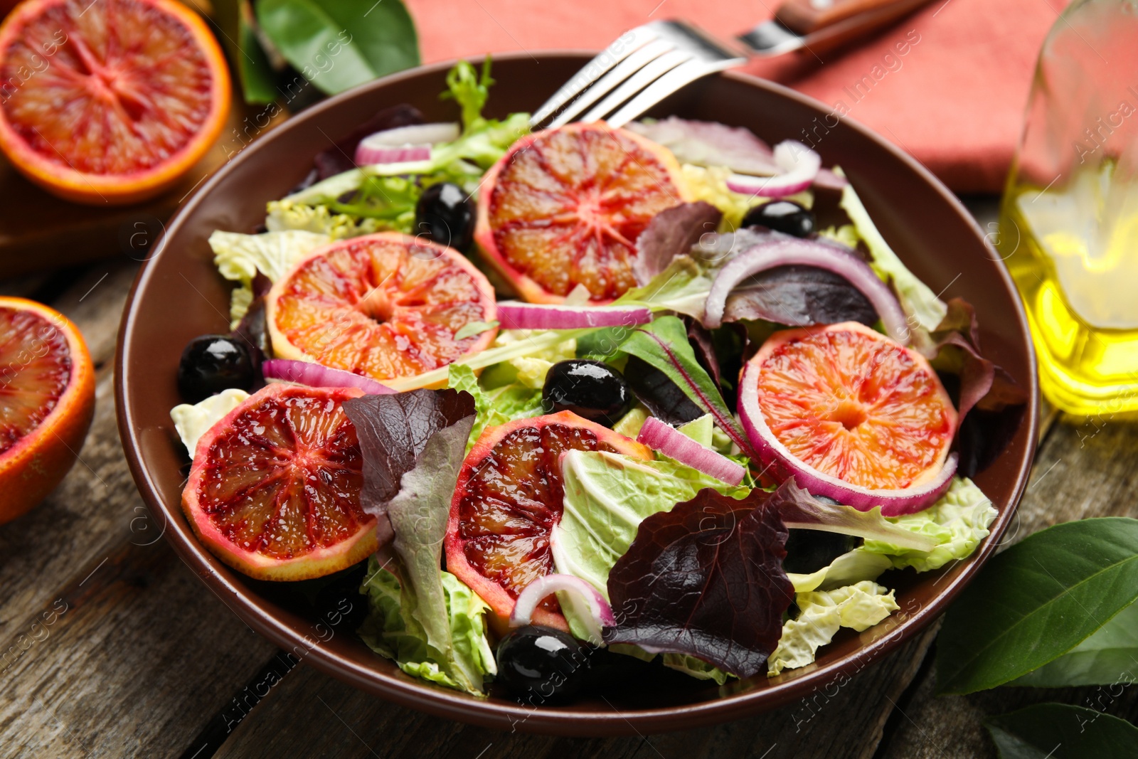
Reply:
[[846, 278], [877, 312], [889, 337], [901, 345], [908, 344], [910, 330], [905, 320], [905, 312], [901, 311], [901, 304], [897, 302], [897, 296], [889, 286], [873, 273], [869, 264], [858, 258], [852, 250], [815, 240], [774, 239], [750, 247], [728, 261], [711, 283], [704, 306], [703, 325], [715, 329], [723, 323], [727, 296], [748, 277], [790, 264], [816, 266]]

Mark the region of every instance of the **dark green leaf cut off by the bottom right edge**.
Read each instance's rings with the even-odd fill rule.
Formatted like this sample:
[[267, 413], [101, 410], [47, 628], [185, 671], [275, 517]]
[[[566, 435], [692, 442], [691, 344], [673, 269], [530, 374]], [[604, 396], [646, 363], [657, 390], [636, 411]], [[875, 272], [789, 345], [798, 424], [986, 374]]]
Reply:
[[1086, 707], [1037, 703], [984, 721], [1000, 759], [1130, 759], [1138, 728]]

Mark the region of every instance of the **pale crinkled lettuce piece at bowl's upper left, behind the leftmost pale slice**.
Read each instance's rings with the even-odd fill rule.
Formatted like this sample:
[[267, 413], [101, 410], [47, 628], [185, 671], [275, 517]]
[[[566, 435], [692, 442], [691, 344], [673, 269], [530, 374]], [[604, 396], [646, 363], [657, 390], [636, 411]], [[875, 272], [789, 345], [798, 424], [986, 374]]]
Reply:
[[214, 265], [221, 275], [240, 287], [233, 290], [229, 307], [232, 328], [253, 300], [253, 278], [261, 272], [272, 281], [280, 279], [296, 262], [331, 238], [327, 234], [300, 230], [240, 234], [215, 231], [209, 236], [209, 247], [214, 251]]

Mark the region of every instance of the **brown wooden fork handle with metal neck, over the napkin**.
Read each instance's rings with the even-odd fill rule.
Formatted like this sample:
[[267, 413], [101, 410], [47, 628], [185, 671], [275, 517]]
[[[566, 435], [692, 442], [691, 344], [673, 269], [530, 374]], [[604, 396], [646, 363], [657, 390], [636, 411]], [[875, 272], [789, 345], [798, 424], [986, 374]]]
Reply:
[[912, 14], [931, 0], [786, 0], [772, 20], [739, 35], [754, 56], [832, 50]]

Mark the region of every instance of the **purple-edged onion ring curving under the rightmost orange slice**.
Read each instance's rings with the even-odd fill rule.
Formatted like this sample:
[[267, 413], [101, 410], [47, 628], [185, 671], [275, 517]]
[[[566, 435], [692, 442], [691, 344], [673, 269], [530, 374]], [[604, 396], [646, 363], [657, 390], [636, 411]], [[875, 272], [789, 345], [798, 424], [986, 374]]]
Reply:
[[953, 476], [956, 473], [957, 455], [950, 453], [945, 465], [931, 481], [894, 490], [873, 490], [819, 472], [805, 461], [797, 459], [767, 427], [762, 411], [759, 409], [758, 365], [748, 363], [743, 368], [739, 389], [739, 418], [747, 430], [748, 437], [759, 453], [759, 460], [767, 467], [775, 479], [782, 481], [790, 477], [794, 482], [811, 495], [833, 498], [838, 503], [853, 506], [859, 511], [868, 511], [881, 506], [884, 517], [912, 514], [932, 505], [945, 495]]

